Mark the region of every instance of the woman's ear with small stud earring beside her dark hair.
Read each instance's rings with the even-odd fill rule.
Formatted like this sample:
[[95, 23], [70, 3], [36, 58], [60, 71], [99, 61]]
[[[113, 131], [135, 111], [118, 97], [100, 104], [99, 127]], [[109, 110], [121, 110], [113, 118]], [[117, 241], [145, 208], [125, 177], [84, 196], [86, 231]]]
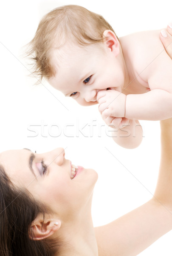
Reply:
[[43, 221], [42, 217], [37, 217], [31, 224], [29, 237], [32, 240], [42, 240], [52, 236], [61, 226], [61, 221], [48, 218]]

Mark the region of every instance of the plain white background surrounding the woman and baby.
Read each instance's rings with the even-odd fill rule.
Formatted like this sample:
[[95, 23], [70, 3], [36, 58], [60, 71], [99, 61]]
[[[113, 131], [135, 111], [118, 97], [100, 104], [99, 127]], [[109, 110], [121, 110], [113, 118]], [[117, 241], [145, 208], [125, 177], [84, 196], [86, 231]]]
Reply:
[[[0, 151], [30, 148], [39, 153], [62, 146], [72, 163], [96, 169], [99, 180], [92, 212], [97, 226], [152, 197], [158, 176], [160, 128], [159, 122], [142, 121], [141, 145], [133, 150], [121, 148], [107, 136], [106, 126], [101, 130], [104, 122], [97, 105], [81, 107], [46, 81], [34, 85], [37, 79], [28, 76], [30, 67], [22, 58], [22, 47], [34, 37], [43, 15], [67, 4], [82, 5], [103, 15], [120, 37], [166, 27], [172, 21], [172, 1], [1, 1]], [[96, 126], [91, 126], [93, 123]], [[140, 255], [172, 255], [171, 241], [169, 232]]]

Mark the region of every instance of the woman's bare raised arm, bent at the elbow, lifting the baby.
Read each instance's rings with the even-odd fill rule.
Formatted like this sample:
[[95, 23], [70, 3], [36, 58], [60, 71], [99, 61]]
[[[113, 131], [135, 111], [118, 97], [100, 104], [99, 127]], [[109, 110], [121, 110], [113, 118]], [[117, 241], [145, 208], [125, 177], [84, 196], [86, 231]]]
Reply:
[[172, 230], [172, 118], [161, 121], [161, 164], [154, 196], [146, 204], [96, 229], [99, 250], [135, 256]]

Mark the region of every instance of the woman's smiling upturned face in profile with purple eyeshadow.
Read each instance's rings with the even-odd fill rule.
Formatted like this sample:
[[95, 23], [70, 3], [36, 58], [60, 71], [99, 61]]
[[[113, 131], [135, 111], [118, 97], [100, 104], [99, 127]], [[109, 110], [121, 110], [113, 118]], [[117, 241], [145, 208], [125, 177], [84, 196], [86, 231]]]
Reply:
[[44, 154], [28, 149], [5, 151], [0, 154], [0, 164], [15, 185], [28, 189], [63, 218], [68, 218], [69, 213], [76, 215], [91, 201], [97, 180], [93, 169], [78, 167], [75, 175], [63, 148]]

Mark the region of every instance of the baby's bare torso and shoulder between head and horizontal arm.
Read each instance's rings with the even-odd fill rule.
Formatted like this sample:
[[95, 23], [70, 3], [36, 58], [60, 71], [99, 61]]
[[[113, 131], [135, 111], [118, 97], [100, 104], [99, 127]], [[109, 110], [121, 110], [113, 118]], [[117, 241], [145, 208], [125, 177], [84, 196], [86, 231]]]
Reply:
[[152, 89], [172, 92], [172, 60], [159, 38], [161, 30], [137, 32], [119, 38], [130, 77], [126, 94]]

